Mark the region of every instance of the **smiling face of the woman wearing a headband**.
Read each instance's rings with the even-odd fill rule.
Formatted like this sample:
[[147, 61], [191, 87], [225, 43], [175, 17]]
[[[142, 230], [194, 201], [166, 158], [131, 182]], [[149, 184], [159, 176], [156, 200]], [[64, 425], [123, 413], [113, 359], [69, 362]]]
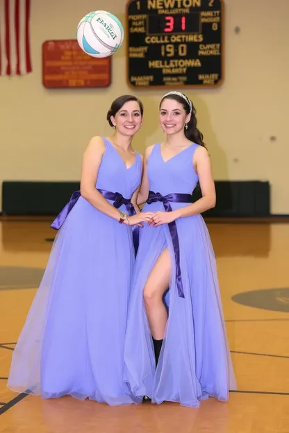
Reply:
[[179, 133], [190, 120], [183, 104], [175, 99], [165, 98], [160, 104], [160, 127], [168, 135]]

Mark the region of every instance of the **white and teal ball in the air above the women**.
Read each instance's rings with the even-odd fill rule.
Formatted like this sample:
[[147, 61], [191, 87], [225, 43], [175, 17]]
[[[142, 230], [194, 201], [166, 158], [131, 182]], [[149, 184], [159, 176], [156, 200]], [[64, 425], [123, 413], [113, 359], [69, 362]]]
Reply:
[[115, 15], [106, 10], [96, 10], [81, 19], [76, 37], [79, 46], [88, 56], [108, 57], [121, 46], [124, 28]]

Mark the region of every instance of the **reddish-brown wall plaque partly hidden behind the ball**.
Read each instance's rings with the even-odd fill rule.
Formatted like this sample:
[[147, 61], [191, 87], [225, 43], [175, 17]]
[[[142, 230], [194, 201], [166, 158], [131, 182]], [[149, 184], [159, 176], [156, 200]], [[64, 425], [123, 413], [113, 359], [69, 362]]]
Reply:
[[61, 87], [108, 87], [111, 57], [93, 58], [77, 40], [48, 40], [42, 45], [42, 83]]

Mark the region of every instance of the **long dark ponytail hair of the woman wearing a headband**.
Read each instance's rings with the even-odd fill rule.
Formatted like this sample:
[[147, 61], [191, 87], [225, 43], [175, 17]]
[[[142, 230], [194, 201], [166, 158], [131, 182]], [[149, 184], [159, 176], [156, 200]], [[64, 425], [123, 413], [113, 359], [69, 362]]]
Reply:
[[[206, 144], [203, 141], [204, 135], [197, 128], [196, 109], [195, 109], [192, 101], [190, 101], [190, 99], [188, 99], [188, 96], [185, 96], [185, 94], [183, 94], [183, 96], [181, 96], [181, 95], [177, 94], [177, 92], [176, 93], [169, 93], [169, 94], [165, 95], [163, 97], [163, 99], [160, 101], [160, 106], [162, 105], [162, 102], [165, 99], [174, 99], [174, 101], [177, 101], [181, 105], [183, 105], [183, 109], [185, 110], [186, 114], [191, 113], [190, 121], [187, 124], [188, 129], [185, 128], [185, 137], [187, 137], [190, 140], [190, 142], [197, 143], [200, 146], [206, 147]], [[192, 107], [192, 111], [191, 111], [190, 105]]]

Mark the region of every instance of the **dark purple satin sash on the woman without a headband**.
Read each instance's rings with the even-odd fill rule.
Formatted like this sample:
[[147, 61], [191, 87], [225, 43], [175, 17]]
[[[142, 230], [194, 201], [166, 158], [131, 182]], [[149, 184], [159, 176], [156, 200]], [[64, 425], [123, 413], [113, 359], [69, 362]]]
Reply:
[[[104, 198], [106, 198], [106, 200], [112, 200], [113, 206], [116, 209], [119, 209], [119, 207], [121, 207], [121, 205], [125, 205], [126, 210], [127, 210], [129, 215], [132, 216], [136, 213], [135, 208], [133, 207], [133, 203], [131, 203], [130, 198], [124, 198], [122, 196], [122, 194], [119, 194], [119, 192], [110, 192], [110, 191], [106, 191], [105, 189], [97, 189], [97, 191], [99, 191], [100, 194], [102, 196], [104, 196]], [[76, 205], [76, 202], [79, 200], [79, 197], [81, 197], [81, 192], [80, 191], [74, 191], [74, 193], [70, 197], [70, 200], [67, 203], [67, 205], [65, 205], [65, 207], [63, 207], [63, 210], [60, 211], [60, 213], [58, 214], [56, 219], [51, 224], [51, 226], [50, 226], [51, 228], [54, 228], [55, 230], [60, 229], [60, 227], [63, 225], [65, 219], [67, 219], [67, 215], [72, 210], [74, 205]], [[132, 226], [132, 230], [133, 230], [133, 246], [135, 248], [135, 254], [136, 254], [138, 251], [139, 227], [138, 226]]]

